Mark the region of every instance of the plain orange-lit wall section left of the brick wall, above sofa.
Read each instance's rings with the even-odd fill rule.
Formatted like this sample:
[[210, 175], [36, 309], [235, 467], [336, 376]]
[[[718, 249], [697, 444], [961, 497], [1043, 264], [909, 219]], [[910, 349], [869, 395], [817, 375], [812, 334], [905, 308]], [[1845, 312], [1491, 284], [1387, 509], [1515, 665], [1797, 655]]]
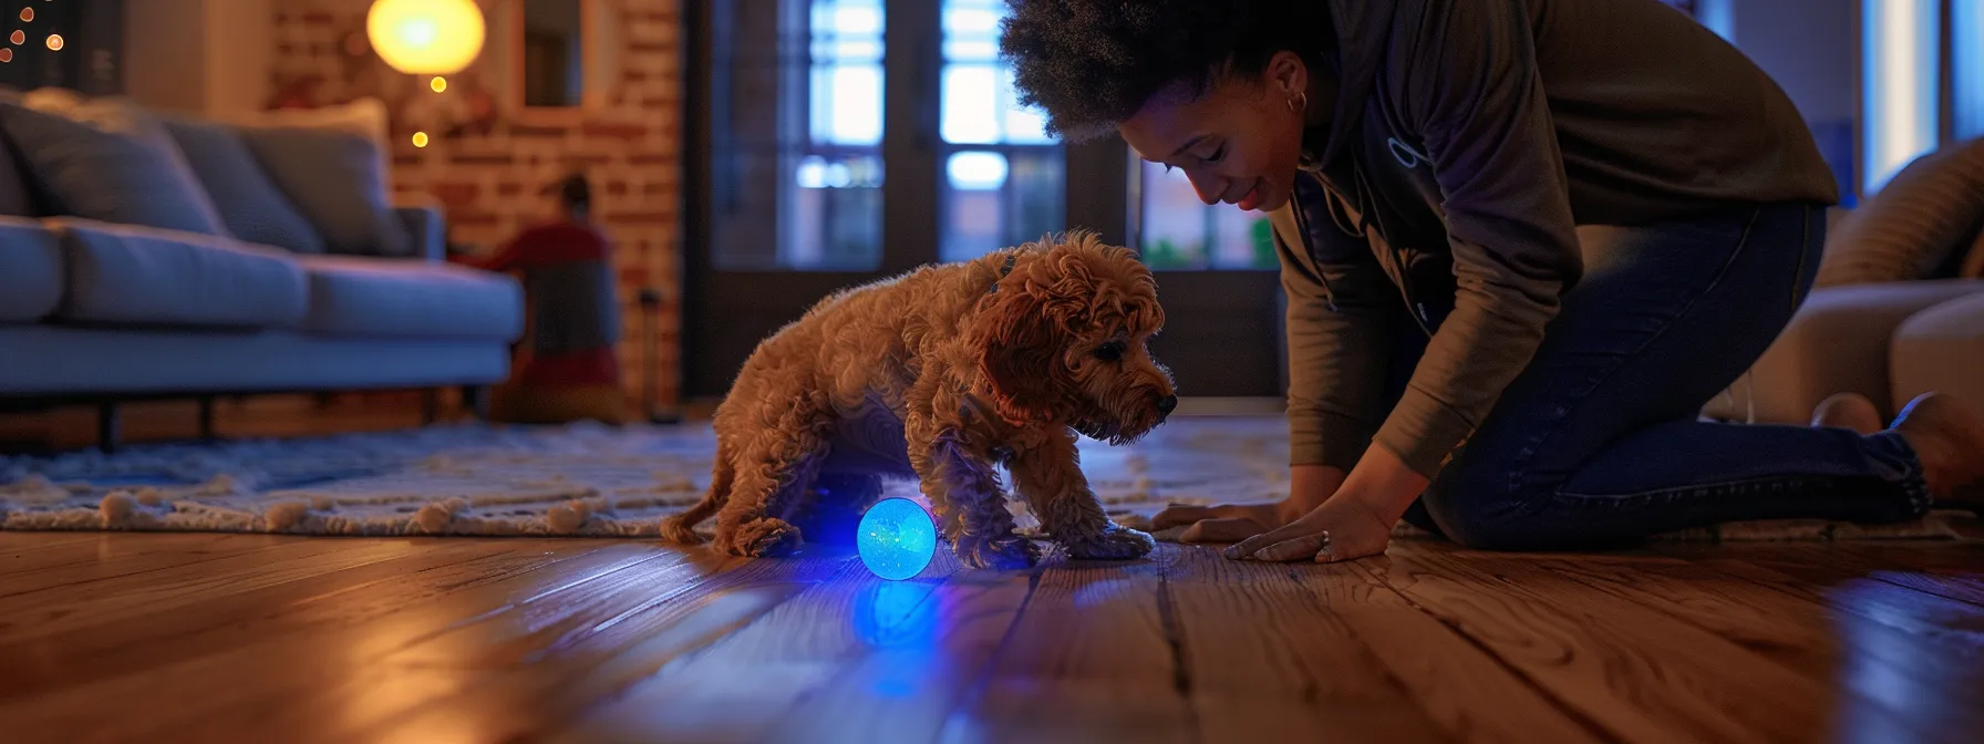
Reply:
[[125, 2], [125, 93], [163, 109], [236, 113], [268, 97], [280, 0]]

